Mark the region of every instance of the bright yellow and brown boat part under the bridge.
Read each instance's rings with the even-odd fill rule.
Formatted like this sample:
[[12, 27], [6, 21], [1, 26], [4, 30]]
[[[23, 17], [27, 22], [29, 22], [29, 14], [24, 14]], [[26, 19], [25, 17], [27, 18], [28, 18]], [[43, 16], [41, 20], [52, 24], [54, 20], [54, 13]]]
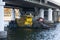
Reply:
[[20, 27], [24, 27], [24, 26], [32, 26], [32, 16], [30, 15], [23, 15], [21, 16], [20, 19], [16, 19], [16, 23], [17, 25]]

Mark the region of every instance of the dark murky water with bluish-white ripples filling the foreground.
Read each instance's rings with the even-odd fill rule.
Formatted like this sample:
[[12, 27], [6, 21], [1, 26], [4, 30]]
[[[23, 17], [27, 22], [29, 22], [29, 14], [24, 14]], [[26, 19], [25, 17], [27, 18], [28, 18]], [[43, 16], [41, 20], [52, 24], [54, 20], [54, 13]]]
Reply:
[[60, 40], [60, 24], [50, 29], [8, 30], [8, 40]]

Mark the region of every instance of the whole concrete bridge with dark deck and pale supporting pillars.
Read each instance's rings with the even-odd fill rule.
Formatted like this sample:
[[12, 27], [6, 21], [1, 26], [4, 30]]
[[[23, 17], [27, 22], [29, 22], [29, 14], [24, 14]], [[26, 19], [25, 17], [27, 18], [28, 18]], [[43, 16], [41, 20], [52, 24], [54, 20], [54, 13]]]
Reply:
[[57, 21], [60, 16], [60, 5], [49, 0], [0, 0], [0, 31], [4, 31], [4, 8], [12, 8], [11, 18], [15, 20], [15, 9], [22, 12], [32, 11], [34, 16], [46, 18], [50, 22]]

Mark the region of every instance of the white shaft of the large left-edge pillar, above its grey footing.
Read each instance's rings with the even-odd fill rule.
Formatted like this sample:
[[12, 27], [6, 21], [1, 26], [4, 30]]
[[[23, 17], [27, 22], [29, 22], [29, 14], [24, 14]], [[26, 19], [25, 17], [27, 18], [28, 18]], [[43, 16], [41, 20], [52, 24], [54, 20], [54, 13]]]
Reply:
[[0, 0], [0, 31], [4, 31], [4, 5], [5, 2]]

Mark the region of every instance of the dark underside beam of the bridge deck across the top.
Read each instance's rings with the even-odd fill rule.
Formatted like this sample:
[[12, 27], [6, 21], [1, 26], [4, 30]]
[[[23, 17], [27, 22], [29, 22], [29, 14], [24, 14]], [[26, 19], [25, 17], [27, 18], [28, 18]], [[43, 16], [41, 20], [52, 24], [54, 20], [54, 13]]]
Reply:
[[6, 5], [5, 7], [7, 8], [57, 8], [56, 6], [51, 6], [49, 4], [44, 4], [44, 3], [34, 3], [34, 2], [29, 2], [29, 1], [21, 1], [21, 0], [3, 0]]

